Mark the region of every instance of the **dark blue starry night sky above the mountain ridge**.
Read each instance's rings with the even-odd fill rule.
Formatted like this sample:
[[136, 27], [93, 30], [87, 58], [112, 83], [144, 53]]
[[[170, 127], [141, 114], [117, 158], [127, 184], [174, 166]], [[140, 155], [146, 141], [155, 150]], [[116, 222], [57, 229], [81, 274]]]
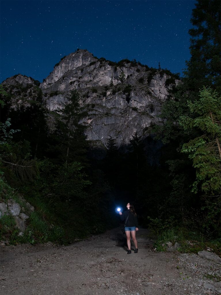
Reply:
[[42, 82], [77, 48], [98, 58], [136, 59], [182, 72], [195, 1], [1, 1], [0, 81]]

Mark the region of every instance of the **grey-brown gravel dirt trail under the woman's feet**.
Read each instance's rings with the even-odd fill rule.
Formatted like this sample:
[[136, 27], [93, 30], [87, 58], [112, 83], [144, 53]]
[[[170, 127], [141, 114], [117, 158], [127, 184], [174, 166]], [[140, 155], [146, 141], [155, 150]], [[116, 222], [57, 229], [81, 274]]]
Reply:
[[129, 255], [120, 228], [70, 246], [47, 243], [3, 247], [0, 294], [221, 293], [221, 283], [215, 281], [221, 276], [220, 266], [195, 254], [153, 252], [148, 234], [145, 229], [137, 232], [138, 253]]

